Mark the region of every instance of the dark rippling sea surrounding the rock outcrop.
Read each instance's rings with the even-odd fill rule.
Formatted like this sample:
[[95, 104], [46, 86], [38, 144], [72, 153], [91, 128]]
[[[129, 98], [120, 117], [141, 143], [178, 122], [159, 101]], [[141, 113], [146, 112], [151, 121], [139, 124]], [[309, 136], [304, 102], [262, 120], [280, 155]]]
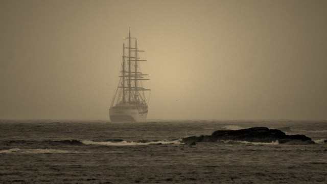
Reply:
[[[250, 127], [312, 145], [181, 143]], [[327, 121], [0, 120], [0, 183], [327, 183]]]

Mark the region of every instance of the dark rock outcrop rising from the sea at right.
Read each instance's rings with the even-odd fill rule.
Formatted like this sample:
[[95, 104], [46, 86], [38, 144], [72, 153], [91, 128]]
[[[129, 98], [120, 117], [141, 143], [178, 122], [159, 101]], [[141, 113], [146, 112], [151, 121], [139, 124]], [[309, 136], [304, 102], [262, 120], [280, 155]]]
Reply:
[[286, 135], [281, 130], [269, 129], [266, 127], [253, 127], [241, 130], [217, 130], [211, 135], [191, 136], [182, 139], [188, 145], [196, 142], [217, 142], [217, 141], [247, 141], [256, 143], [305, 143], [314, 144], [310, 137], [306, 135]]

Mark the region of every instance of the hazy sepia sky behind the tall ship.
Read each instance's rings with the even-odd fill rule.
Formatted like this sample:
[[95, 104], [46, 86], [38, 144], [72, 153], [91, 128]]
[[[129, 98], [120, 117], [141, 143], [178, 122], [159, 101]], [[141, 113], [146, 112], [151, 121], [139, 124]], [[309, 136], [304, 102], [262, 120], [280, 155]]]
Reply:
[[148, 119], [327, 119], [327, 1], [0, 1], [0, 119], [107, 119], [131, 34]]

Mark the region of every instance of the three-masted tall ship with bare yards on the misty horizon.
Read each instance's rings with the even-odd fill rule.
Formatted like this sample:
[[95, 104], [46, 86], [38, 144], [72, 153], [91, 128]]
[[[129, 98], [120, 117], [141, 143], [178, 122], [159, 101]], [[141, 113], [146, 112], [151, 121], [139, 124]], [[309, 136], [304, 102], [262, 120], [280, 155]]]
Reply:
[[[131, 32], [126, 38], [128, 45], [123, 43], [123, 57], [119, 74], [119, 83], [111, 101], [109, 117], [111, 122], [143, 122], [148, 115], [150, 89], [143, 87], [143, 81], [149, 80], [139, 68], [141, 59], [136, 38]], [[149, 91], [147, 93], [147, 91]], [[146, 97], [148, 97], [146, 99]]]

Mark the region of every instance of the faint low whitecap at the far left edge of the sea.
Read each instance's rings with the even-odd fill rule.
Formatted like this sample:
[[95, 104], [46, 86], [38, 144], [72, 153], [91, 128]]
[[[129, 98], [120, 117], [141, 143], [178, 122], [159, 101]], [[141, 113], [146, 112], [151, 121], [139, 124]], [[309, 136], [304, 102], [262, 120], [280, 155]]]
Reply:
[[44, 153], [73, 153], [68, 150], [58, 150], [58, 149], [19, 149], [13, 148], [9, 150], [2, 150], [1, 153], [22, 153], [22, 154], [44, 154]]

